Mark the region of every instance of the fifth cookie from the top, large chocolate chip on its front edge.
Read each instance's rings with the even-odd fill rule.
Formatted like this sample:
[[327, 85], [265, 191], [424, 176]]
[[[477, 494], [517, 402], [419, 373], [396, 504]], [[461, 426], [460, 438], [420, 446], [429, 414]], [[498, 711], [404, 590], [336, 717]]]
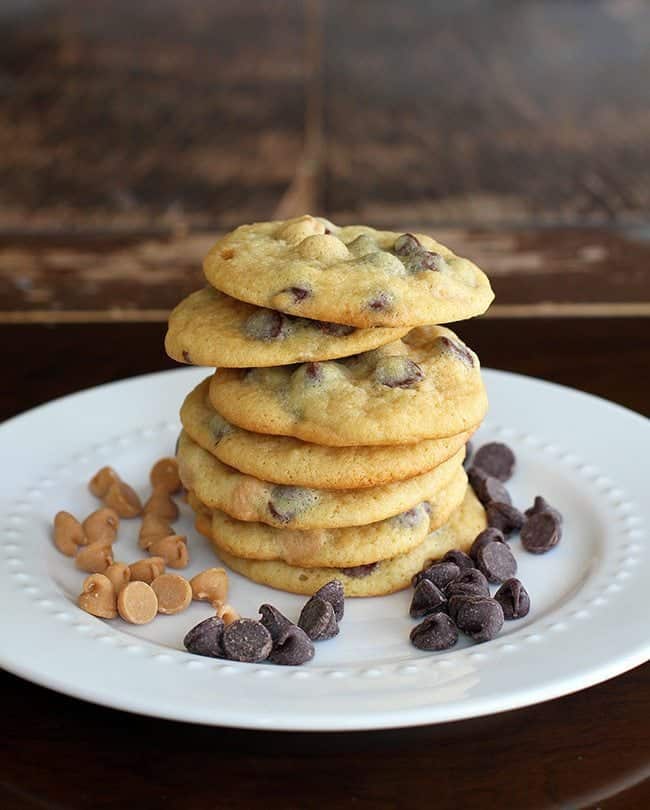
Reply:
[[248, 522], [290, 529], [362, 526], [392, 517], [447, 486], [465, 450], [429, 472], [359, 490], [308, 489], [272, 484], [222, 464], [182, 433], [178, 466], [186, 489], [206, 506]]

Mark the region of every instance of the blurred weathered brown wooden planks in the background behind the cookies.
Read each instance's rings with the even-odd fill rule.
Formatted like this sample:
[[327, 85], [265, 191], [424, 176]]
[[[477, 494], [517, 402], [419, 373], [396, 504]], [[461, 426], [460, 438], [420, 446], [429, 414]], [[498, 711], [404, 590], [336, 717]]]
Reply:
[[492, 315], [650, 312], [650, 6], [0, 6], [0, 322], [164, 320], [223, 230], [421, 227]]

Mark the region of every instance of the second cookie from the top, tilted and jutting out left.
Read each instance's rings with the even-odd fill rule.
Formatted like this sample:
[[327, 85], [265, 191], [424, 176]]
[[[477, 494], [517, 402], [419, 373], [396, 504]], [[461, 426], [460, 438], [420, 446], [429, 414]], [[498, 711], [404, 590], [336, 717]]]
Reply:
[[407, 332], [408, 327], [356, 329], [285, 315], [205, 287], [172, 311], [165, 350], [195, 366], [281, 366], [365, 352]]

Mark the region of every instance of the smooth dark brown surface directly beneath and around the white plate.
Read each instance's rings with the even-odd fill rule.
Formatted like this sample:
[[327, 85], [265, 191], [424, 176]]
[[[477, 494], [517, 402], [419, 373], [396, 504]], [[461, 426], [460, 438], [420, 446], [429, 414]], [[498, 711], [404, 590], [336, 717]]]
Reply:
[[[572, 384], [650, 413], [646, 319], [519, 324], [495, 318], [460, 331], [486, 365]], [[88, 385], [171, 367], [163, 332], [159, 323], [0, 326], [9, 352], [0, 419]], [[507, 670], [503, 681], [507, 690]], [[650, 806], [650, 664], [539, 706], [363, 734], [274, 734], [152, 720], [6, 673], [0, 689], [2, 810]]]

